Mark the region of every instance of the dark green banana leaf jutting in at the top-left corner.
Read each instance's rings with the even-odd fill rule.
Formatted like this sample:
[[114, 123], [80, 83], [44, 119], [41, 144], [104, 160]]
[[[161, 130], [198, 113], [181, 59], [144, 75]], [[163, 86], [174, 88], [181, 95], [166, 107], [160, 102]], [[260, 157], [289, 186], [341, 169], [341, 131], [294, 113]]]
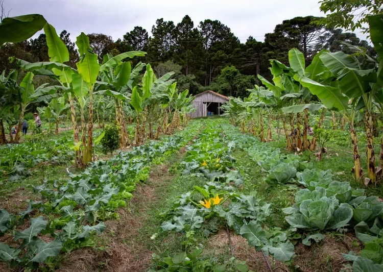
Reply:
[[0, 23], [0, 46], [5, 42], [17, 43], [31, 38], [45, 23], [40, 14], [4, 18]]

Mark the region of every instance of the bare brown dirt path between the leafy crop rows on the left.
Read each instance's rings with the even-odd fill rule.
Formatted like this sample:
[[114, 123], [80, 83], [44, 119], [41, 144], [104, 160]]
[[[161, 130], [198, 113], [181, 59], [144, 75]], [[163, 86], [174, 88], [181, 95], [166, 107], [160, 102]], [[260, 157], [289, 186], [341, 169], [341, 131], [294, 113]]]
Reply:
[[156, 195], [156, 189], [175, 178], [177, 174], [171, 174], [169, 167], [181, 160], [184, 150], [183, 147], [169, 162], [153, 167], [149, 180], [137, 186], [129, 207], [117, 211], [120, 219], [105, 222], [106, 231], [99, 238], [100, 244], [106, 245], [105, 251], [80, 249], [67, 256], [58, 271], [147, 271], [152, 260], [147, 246], [151, 240], [140, 234], [140, 229], [146, 224], [148, 211], [165, 197]]

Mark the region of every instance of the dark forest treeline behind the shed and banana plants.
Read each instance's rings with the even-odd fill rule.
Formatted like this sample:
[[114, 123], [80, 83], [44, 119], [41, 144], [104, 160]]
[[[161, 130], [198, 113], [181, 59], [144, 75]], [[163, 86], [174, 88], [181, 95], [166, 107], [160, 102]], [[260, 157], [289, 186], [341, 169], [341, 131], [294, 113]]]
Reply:
[[[318, 19], [307, 16], [283, 20], [273, 33], [265, 35], [264, 41], [250, 36], [245, 43], [218, 20], [206, 19], [196, 25], [188, 15], [177, 24], [157, 19], [151, 35], [137, 26], [115, 41], [108, 34], [88, 36], [100, 63], [107, 53], [115, 56], [127, 51], [145, 51], [146, 57], [137, 58], [135, 62], [152, 63], [157, 77], [175, 71], [180, 89], [188, 88], [192, 94], [211, 89], [244, 97], [247, 89], [259, 83], [258, 74], [270, 79], [269, 60], [278, 59], [288, 64], [288, 52], [294, 47], [304, 54], [306, 63], [323, 48], [330, 52], [352, 53], [344, 42], [366, 48], [370, 56], [376, 55], [367, 41], [360, 40], [354, 33], [326, 28]], [[66, 30], [61, 32], [60, 38], [69, 51], [67, 64], [76, 67], [79, 54], [75, 42]], [[49, 61], [45, 34], [5, 44], [0, 49], [0, 71], [17, 68], [8, 60], [12, 56], [30, 62]]]

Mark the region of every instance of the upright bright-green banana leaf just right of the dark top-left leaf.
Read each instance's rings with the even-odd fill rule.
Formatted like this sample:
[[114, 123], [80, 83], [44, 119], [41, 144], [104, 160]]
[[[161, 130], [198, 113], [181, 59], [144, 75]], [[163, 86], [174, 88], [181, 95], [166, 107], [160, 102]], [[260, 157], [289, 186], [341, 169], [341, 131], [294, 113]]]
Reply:
[[44, 26], [46, 35], [46, 45], [48, 46], [48, 55], [50, 61], [64, 63], [69, 61], [69, 51], [65, 43], [57, 35], [55, 28], [46, 23]]

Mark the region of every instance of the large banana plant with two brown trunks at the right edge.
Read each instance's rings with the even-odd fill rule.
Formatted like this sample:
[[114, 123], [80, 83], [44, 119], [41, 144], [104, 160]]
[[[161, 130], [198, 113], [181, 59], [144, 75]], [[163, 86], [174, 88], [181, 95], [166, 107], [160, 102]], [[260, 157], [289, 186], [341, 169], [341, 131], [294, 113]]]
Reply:
[[299, 75], [296, 75], [295, 79], [304, 87], [309, 88], [313, 94], [316, 94], [327, 108], [342, 111], [348, 119], [353, 143], [356, 179], [361, 178], [363, 170], [354, 131], [354, 118], [358, 109], [365, 109], [364, 123], [367, 137], [368, 176], [371, 182], [375, 184], [375, 155], [371, 113], [374, 107], [374, 97], [383, 86], [379, 81], [379, 78], [383, 78], [383, 73], [379, 68], [377, 71], [376, 69], [362, 69], [357, 59], [343, 52], [324, 52], [321, 54], [320, 59], [331, 73], [330, 83], [321, 84]]

